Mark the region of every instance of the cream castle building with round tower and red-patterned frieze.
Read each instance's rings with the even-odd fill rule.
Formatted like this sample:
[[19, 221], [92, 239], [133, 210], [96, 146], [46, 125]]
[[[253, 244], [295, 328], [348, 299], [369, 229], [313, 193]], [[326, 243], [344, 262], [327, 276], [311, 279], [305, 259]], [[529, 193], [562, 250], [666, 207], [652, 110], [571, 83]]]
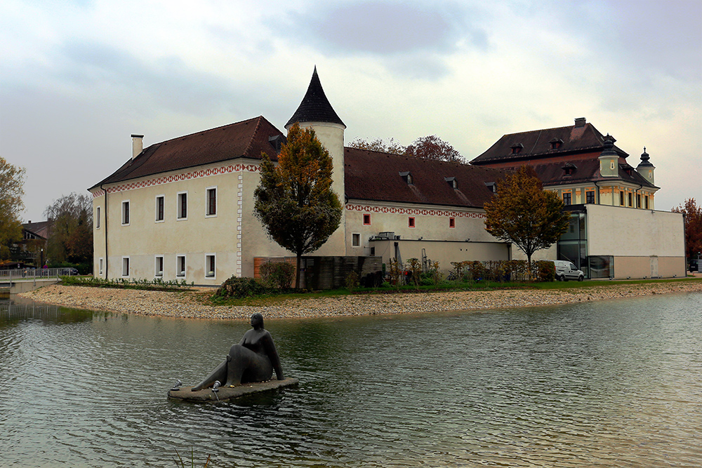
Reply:
[[[510, 246], [485, 231], [482, 209], [502, 169], [345, 148], [346, 126], [316, 68], [286, 128], [296, 122], [329, 151], [344, 206], [340, 227], [312, 255], [415, 257], [444, 268], [510, 258]], [[131, 158], [89, 189], [95, 276], [214, 286], [254, 276], [256, 258], [292, 256], [253, 215], [262, 154], [277, 161], [285, 138], [263, 116], [146, 148], [132, 135]]]

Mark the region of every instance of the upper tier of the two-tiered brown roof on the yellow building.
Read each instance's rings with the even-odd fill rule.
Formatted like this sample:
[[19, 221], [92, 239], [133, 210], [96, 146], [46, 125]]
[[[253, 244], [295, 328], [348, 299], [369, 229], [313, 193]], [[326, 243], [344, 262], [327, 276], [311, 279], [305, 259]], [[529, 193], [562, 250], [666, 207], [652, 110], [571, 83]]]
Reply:
[[[552, 149], [552, 142], [562, 140], [557, 149]], [[509, 163], [534, 159], [549, 159], [557, 156], [597, 153], [602, 151], [604, 136], [592, 123], [581, 126], [546, 128], [522, 133], [510, 133], [500, 138], [486, 152], [470, 161], [475, 165]], [[518, 154], [512, 154], [512, 147], [522, 145]], [[619, 156], [628, 156], [618, 147], [614, 150]]]

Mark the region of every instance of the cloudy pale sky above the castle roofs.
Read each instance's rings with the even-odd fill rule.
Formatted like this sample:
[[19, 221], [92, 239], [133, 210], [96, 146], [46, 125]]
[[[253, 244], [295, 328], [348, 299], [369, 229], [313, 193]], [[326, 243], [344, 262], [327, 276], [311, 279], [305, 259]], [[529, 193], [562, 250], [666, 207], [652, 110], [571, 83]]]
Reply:
[[345, 141], [438, 135], [473, 159], [585, 117], [656, 209], [702, 202], [702, 0], [0, 2], [0, 156], [25, 222], [144, 145], [263, 115], [283, 131], [317, 66]]

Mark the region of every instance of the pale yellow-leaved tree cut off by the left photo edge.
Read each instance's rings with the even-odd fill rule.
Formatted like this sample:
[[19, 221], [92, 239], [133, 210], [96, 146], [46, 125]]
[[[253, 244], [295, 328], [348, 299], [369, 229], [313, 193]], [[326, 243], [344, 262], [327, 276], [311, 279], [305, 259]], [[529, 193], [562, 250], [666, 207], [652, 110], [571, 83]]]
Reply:
[[20, 214], [25, 209], [22, 185], [25, 169], [0, 156], [0, 260], [10, 257], [10, 246], [22, 239]]

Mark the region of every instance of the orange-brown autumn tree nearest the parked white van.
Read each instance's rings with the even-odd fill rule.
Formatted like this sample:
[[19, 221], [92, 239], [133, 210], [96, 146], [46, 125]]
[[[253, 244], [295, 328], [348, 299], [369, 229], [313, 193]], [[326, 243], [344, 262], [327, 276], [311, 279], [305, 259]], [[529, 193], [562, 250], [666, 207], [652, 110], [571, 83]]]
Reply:
[[498, 239], [514, 243], [529, 262], [536, 250], [558, 241], [569, 225], [570, 213], [550, 190], [544, 190], [531, 166], [522, 166], [497, 182], [497, 194], [485, 203], [485, 229]]

